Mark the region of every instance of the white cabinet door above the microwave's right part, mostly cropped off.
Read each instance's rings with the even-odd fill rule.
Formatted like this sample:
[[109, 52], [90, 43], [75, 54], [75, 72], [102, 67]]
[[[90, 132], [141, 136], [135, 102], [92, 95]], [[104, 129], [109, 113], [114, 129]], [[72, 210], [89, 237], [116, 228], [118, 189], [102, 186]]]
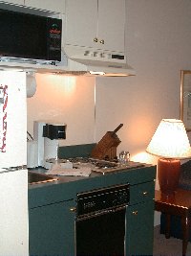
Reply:
[[51, 12], [65, 12], [64, 0], [25, 0], [27, 7], [32, 7], [41, 10], [47, 10]]

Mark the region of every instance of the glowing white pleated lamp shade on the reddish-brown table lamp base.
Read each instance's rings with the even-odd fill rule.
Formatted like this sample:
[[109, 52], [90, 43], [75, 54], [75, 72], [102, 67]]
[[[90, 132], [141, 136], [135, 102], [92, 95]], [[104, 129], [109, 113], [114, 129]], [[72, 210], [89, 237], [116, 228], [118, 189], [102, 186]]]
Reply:
[[190, 143], [183, 122], [178, 119], [162, 119], [146, 151], [162, 158], [191, 157]]

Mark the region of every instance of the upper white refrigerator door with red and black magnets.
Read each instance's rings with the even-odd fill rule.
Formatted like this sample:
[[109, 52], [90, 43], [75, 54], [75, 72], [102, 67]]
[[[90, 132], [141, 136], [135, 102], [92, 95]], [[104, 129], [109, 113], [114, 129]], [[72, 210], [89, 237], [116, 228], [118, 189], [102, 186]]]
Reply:
[[0, 71], [0, 170], [26, 164], [26, 73]]

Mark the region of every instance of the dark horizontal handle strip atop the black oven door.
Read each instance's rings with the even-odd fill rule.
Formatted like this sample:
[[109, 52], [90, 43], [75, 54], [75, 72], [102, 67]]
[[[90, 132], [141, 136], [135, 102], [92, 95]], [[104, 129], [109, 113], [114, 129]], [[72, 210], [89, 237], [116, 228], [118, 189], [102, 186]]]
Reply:
[[127, 205], [125, 204], [125, 205], [120, 205], [120, 206], [109, 208], [109, 209], [99, 210], [99, 211], [94, 212], [94, 213], [80, 215], [76, 218], [76, 220], [77, 221], [84, 221], [84, 220], [88, 220], [88, 219], [91, 219], [91, 218], [96, 218], [97, 216], [101, 216], [101, 215], [104, 215], [104, 214], [115, 213], [115, 212], [124, 210], [126, 208], [126, 206]]

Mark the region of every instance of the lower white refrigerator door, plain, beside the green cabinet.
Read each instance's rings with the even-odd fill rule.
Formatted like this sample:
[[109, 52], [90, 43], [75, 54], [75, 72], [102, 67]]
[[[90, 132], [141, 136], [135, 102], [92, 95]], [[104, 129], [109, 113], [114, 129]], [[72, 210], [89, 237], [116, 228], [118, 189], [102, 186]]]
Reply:
[[28, 171], [0, 175], [0, 255], [29, 255]]

